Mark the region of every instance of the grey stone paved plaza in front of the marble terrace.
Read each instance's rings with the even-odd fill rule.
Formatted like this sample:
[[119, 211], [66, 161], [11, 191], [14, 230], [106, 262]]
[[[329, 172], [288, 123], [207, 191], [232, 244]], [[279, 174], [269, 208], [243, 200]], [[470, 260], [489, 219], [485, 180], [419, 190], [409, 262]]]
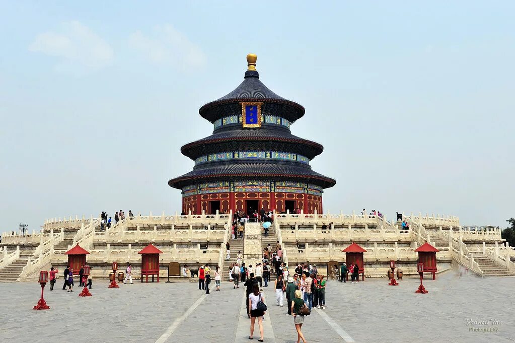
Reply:
[[[61, 281], [61, 280], [58, 280]], [[425, 280], [430, 292], [415, 294], [418, 279], [387, 286], [387, 279], [358, 284], [331, 281], [326, 310], [306, 317], [308, 342], [512, 342], [515, 340], [514, 278], [478, 279], [455, 272]], [[33, 311], [40, 286], [0, 283], [2, 312], [0, 341], [8, 342], [247, 342], [249, 320], [244, 289], [222, 290], [204, 296], [196, 283], [155, 283], [107, 288], [95, 281], [92, 297], [45, 287], [48, 311]], [[214, 287], [213, 287], [214, 288]], [[286, 304], [275, 304], [272, 287], [265, 288], [269, 311], [265, 341], [295, 342], [293, 318]], [[285, 300], [286, 302], [286, 300]], [[467, 320], [494, 324], [471, 324]], [[254, 333], [259, 338], [259, 331]]]

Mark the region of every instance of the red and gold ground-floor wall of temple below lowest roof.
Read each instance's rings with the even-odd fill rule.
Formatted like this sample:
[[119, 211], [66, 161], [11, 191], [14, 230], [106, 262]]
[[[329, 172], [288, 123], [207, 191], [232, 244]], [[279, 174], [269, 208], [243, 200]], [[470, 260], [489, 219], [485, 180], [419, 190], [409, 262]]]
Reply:
[[[251, 200], [248, 202], [247, 200]], [[216, 208], [219, 212], [242, 210], [247, 212], [247, 205], [251, 207], [257, 201], [257, 210], [276, 210], [278, 213], [286, 212], [289, 207], [299, 208], [304, 213], [312, 214], [322, 212], [322, 197], [306, 193], [274, 193], [274, 192], [230, 192], [192, 195], [182, 198], [182, 209], [187, 214], [214, 214]], [[211, 213], [213, 212], [213, 213]], [[290, 211], [292, 213], [293, 211]]]

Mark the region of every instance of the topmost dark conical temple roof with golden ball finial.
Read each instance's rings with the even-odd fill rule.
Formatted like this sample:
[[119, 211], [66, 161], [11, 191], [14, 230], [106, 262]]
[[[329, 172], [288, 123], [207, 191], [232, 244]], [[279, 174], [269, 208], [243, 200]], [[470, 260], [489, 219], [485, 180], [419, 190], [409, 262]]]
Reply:
[[291, 123], [304, 115], [304, 107], [297, 102], [283, 98], [269, 90], [266, 85], [259, 79], [259, 73], [255, 70], [255, 62], [258, 57], [254, 54], [247, 55], [248, 70], [245, 72], [245, 78], [236, 89], [226, 96], [208, 102], [199, 109], [200, 115], [214, 123], [216, 119], [222, 116], [236, 114], [241, 112], [242, 107], [239, 105], [241, 101], [262, 101], [265, 103], [263, 111], [267, 112], [267, 104], [273, 114], [281, 115], [288, 119]]

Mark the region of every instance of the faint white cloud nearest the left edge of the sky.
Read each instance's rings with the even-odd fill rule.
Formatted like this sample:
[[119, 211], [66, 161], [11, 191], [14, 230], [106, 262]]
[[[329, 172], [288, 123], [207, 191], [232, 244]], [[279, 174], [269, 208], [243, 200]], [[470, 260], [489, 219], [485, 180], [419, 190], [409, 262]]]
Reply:
[[62, 23], [59, 32], [39, 33], [29, 50], [61, 58], [56, 70], [70, 67], [98, 69], [111, 64], [114, 59], [111, 46], [78, 21]]

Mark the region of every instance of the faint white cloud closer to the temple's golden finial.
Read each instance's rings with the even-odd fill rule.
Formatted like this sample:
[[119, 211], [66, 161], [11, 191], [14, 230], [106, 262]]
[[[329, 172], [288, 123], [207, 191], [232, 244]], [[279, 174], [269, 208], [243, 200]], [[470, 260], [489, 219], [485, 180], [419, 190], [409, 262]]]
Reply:
[[154, 27], [152, 35], [132, 33], [129, 46], [156, 64], [173, 64], [182, 70], [205, 65], [202, 49], [170, 24]]

